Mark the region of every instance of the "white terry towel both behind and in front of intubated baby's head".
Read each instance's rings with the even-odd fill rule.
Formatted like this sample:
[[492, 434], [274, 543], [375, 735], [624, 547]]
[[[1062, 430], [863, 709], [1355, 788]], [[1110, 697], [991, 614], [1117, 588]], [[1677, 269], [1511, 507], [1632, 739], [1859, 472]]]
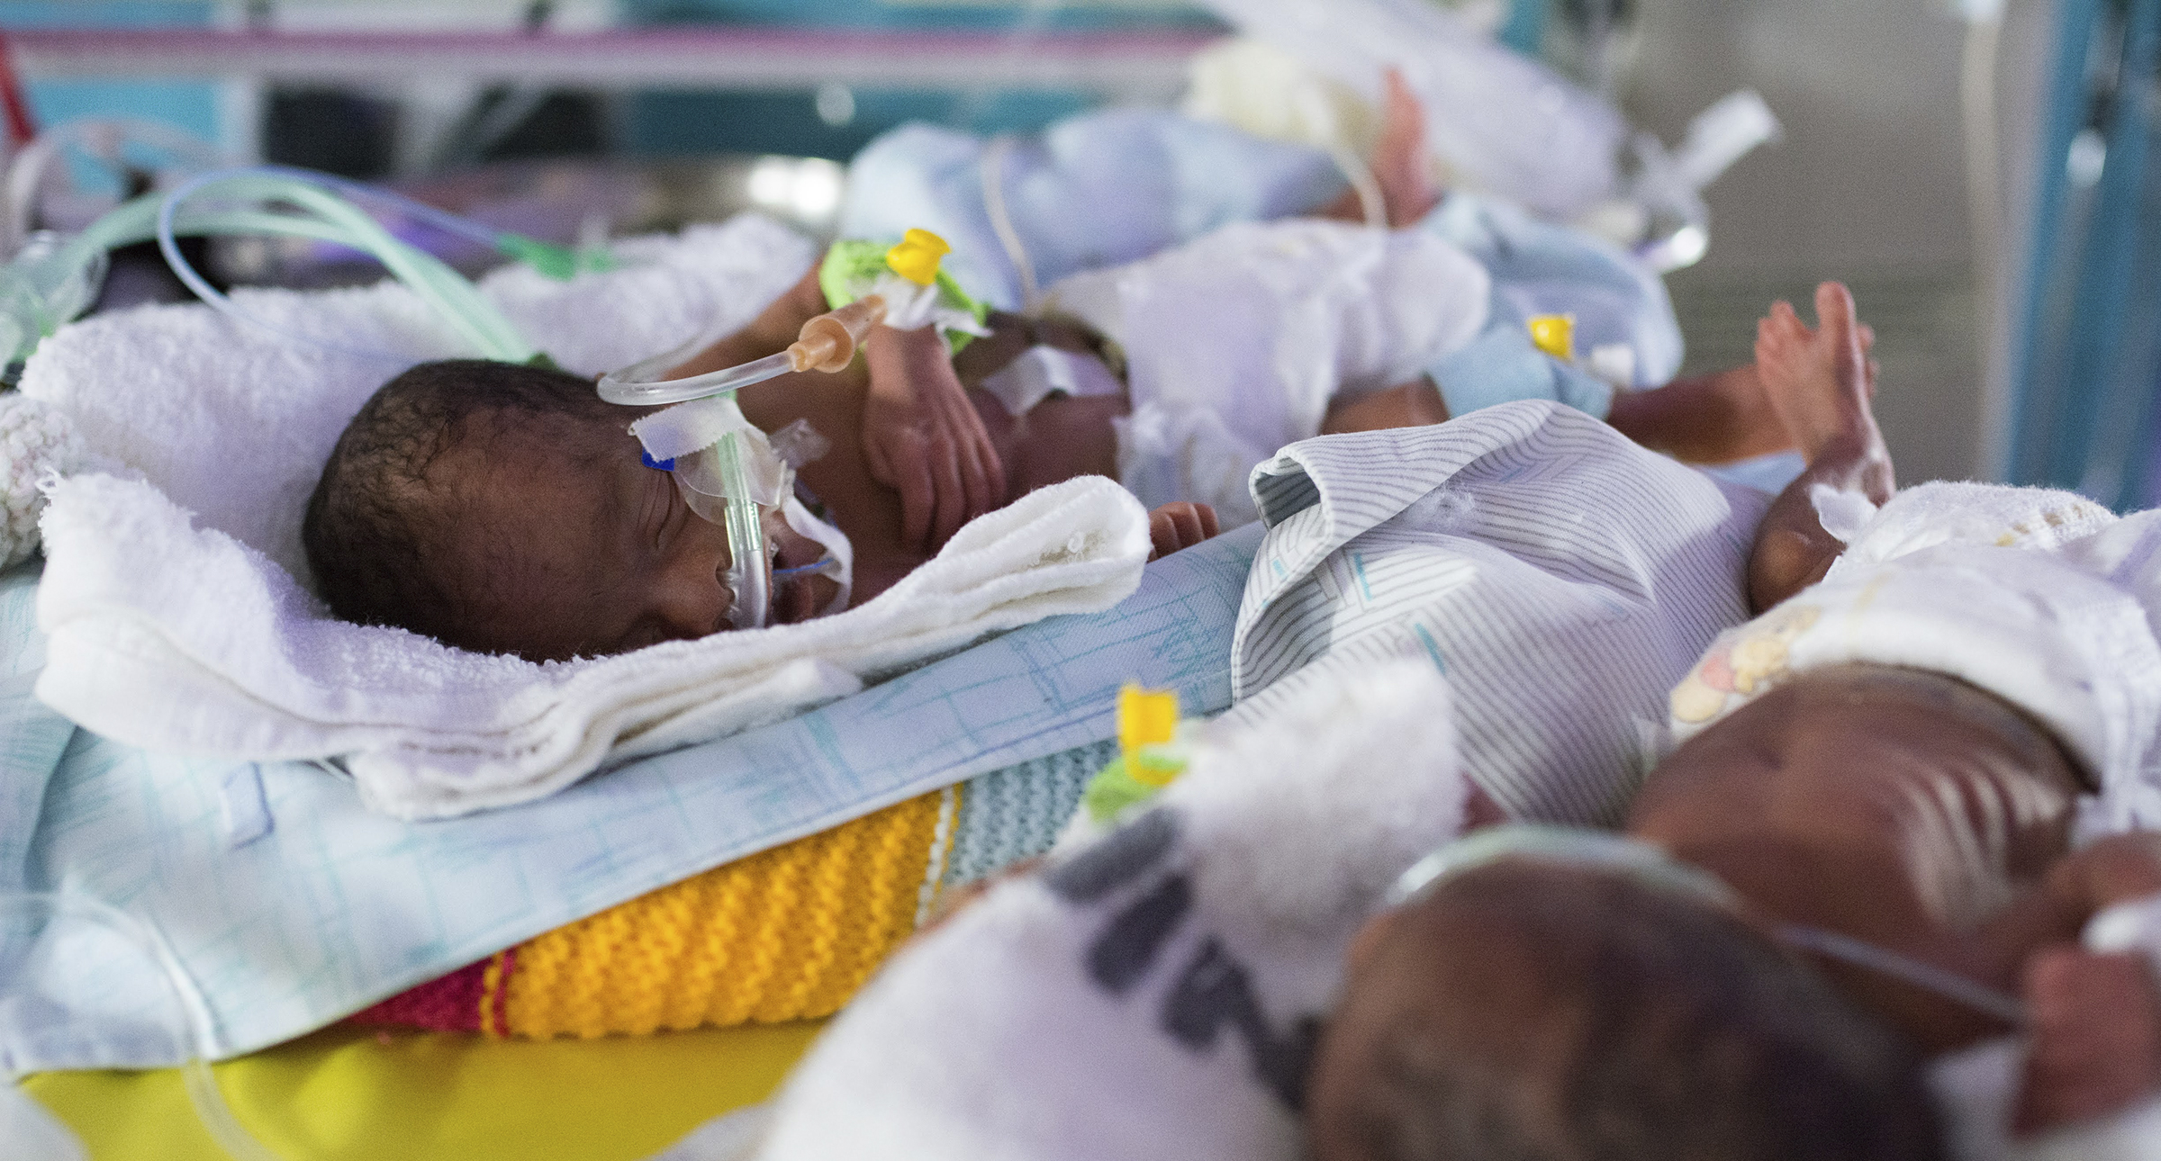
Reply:
[[[748, 319], [810, 259], [754, 218], [627, 252], [644, 265], [568, 285], [510, 272], [486, 291], [566, 367], [596, 371], [713, 317]], [[246, 306], [296, 332], [458, 354], [402, 287], [264, 291]], [[50, 490], [39, 697], [149, 749], [339, 757], [370, 807], [445, 818], [802, 712], [990, 632], [1106, 609], [1147, 557], [1145, 511], [1083, 479], [968, 524], [880, 600], [800, 626], [532, 665], [341, 624], [300, 583], [300, 509], [352, 410], [402, 365], [203, 306], [89, 319], [41, 345], [24, 391], [138, 479], [89, 473]]]

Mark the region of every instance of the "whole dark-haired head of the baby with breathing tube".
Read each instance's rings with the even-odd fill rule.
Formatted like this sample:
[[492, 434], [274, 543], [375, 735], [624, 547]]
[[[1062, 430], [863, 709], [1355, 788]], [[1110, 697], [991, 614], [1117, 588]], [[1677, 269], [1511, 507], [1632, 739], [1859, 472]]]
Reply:
[[[350, 622], [527, 660], [728, 628], [726, 531], [640, 460], [637, 414], [590, 380], [510, 363], [393, 378], [307, 503], [322, 598]], [[815, 596], [780, 593], [776, 619]]]

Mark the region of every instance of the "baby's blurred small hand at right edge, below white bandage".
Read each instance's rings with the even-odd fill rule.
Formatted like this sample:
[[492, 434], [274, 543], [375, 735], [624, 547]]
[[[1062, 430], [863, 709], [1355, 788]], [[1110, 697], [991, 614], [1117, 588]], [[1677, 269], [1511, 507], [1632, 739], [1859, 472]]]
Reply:
[[2025, 978], [2031, 1047], [2018, 1135], [2109, 1116], [2161, 1092], [2161, 995], [2146, 960], [2059, 947]]

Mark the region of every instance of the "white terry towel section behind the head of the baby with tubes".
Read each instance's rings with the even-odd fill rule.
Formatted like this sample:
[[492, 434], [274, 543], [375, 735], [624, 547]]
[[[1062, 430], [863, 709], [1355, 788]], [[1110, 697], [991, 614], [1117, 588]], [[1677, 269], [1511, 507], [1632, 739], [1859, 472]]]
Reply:
[[[514, 265], [482, 281], [504, 315], [566, 369], [599, 375], [741, 326], [817, 257], [767, 218], [616, 244], [625, 270], [558, 283]], [[458, 358], [419, 298], [382, 283], [341, 291], [236, 291], [266, 330], [207, 306], [140, 306], [61, 328], [24, 367], [22, 393], [65, 414], [86, 451], [125, 464], [205, 527], [261, 548], [303, 585], [300, 516], [331, 445], [385, 380]], [[395, 358], [341, 354], [316, 334]], [[65, 470], [65, 468], [63, 468]]]

